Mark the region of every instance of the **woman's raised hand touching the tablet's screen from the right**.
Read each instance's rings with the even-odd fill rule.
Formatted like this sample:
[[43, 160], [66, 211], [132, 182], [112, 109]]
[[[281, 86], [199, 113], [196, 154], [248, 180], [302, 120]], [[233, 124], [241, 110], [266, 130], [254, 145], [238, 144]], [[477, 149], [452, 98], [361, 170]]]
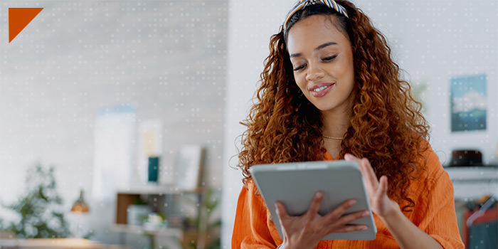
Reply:
[[366, 194], [369, 195], [370, 208], [380, 218], [385, 218], [389, 214], [399, 209], [398, 203], [391, 200], [387, 195], [387, 176], [381, 176], [380, 181], [377, 179], [372, 169], [369, 159], [359, 159], [352, 154], [344, 155], [346, 161], [356, 161], [360, 166], [361, 174], [364, 178]]

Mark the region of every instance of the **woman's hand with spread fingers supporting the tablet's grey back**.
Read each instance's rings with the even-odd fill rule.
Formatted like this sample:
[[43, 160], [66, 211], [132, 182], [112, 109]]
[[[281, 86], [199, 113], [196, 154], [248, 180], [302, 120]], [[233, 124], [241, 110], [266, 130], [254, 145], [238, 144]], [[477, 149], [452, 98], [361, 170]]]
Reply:
[[356, 200], [349, 199], [325, 216], [318, 211], [322, 202], [321, 191], [314, 195], [309, 209], [302, 216], [290, 216], [280, 201], [275, 203], [277, 216], [282, 227], [283, 243], [280, 248], [314, 248], [325, 235], [329, 233], [346, 233], [366, 230], [364, 225], [349, 225], [351, 221], [369, 215], [369, 211], [358, 211], [344, 215], [346, 210], [356, 204]]

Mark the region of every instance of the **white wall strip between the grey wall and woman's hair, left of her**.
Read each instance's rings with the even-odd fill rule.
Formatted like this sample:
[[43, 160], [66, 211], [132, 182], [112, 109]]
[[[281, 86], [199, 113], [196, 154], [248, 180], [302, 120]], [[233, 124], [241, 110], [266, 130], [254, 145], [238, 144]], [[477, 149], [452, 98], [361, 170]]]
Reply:
[[235, 139], [244, 130], [239, 122], [248, 115], [250, 100], [263, 70], [263, 60], [268, 54], [270, 36], [277, 33], [282, 18], [287, 14], [275, 10], [287, 10], [291, 6], [290, 1], [229, 1], [226, 129], [223, 140], [223, 248], [231, 248], [235, 206], [243, 186], [242, 171], [230, 167], [238, 162], [235, 147], [240, 148], [240, 139], [237, 142]]

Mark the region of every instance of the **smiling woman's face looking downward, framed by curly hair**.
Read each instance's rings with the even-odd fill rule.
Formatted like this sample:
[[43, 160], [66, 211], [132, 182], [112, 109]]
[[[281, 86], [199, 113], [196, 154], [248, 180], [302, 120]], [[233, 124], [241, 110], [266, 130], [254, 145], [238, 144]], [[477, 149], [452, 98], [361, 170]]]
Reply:
[[287, 50], [297, 86], [309, 102], [322, 112], [351, 110], [351, 43], [329, 16], [314, 15], [297, 21], [288, 33]]

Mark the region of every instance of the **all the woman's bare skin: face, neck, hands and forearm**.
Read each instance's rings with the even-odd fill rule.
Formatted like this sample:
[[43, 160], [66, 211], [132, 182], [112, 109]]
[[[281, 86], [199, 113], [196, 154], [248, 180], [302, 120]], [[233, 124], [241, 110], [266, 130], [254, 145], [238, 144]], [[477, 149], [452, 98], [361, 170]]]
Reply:
[[[349, 120], [354, 101], [354, 64], [349, 38], [334, 25], [334, 17], [314, 15], [292, 26], [287, 49], [295, 68], [295, 82], [304, 96], [320, 110], [322, 134], [343, 137], [351, 125]], [[323, 83], [334, 85], [327, 95], [312, 95], [310, 88]], [[341, 150], [340, 143], [340, 140], [325, 139], [324, 147], [335, 158]], [[346, 154], [344, 159], [359, 163], [371, 210], [386, 224], [401, 248], [441, 248], [437, 241], [408, 220], [398, 203], [388, 197], [387, 177], [378, 180], [368, 159], [351, 154]], [[289, 216], [282, 203], [275, 203], [283, 233], [280, 248], [313, 248], [329, 233], [366, 229], [366, 226], [348, 224], [368, 216], [368, 211], [344, 215], [356, 200], [347, 200], [321, 216], [318, 210], [322, 198], [323, 194], [318, 192], [302, 216]]]

